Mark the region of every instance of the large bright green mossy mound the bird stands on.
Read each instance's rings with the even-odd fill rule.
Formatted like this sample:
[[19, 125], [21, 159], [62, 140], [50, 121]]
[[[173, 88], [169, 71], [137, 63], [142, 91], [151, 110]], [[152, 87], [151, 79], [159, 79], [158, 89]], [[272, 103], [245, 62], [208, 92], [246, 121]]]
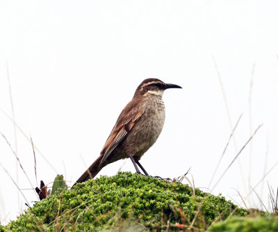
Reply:
[[[204, 200], [203, 200], [204, 199]], [[137, 173], [120, 172], [47, 197], [10, 222], [6, 231], [205, 231], [231, 213], [247, 215], [223, 196]], [[135, 229], [136, 228], [136, 229]], [[2, 229], [3, 230], [3, 229]]]

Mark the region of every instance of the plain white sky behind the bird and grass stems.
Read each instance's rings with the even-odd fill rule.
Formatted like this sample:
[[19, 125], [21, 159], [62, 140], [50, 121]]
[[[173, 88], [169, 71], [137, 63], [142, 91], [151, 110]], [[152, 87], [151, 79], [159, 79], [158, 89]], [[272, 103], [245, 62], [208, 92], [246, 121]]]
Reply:
[[[74, 181], [97, 158], [143, 79], [179, 84], [182, 89], [164, 94], [165, 126], [141, 163], [151, 175], [170, 178], [191, 167], [195, 186], [208, 187], [231, 134], [212, 57], [233, 126], [243, 113], [236, 146], [232, 140], [213, 183], [250, 137], [254, 67], [251, 129], [263, 127], [240, 154], [243, 175], [236, 161], [213, 190], [240, 203], [236, 190], [246, 196], [248, 179], [254, 187], [265, 161], [268, 170], [278, 160], [277, 9], [277, 1], [1, 1], [0, 107], [12, 115], [8, 62], [16, 123], [58, 173]], [[0, 131], [16, 149], [13, 123], [3, 112]], [[16, 134], [19, 159], [35, 187], [31, 144]], [[56, 171], [38, 151], [36, 158], [38, 181], [51, 183]], [[16, 180], [15, 156], [2, 137], [0, 162]], [[135, 172], [123, 160], [100, 174], [112, 176], [120, 167]], [[265, 178], [273, 188], [277, 171]], [[18, 172], [19, 187], [31, 188]], [[0, 222], [6, 224], [26, 206], [1, 167], [0, 176]], [[32, 190], [22, 191], [29, 202], [37, 201]], [[266, 181], [256, 192], [268, 206]], [[261, 207], [255, 194], [246, 203]]]

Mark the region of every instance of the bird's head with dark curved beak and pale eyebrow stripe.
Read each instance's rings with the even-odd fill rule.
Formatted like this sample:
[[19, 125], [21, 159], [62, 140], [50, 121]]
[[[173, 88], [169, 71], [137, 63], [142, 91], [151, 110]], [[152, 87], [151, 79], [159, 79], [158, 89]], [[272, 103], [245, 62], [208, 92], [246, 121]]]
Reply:
[[167, 88], [181, 88], [177, 84], [166, 84], [160, 79], [149, 78], [145, 79], [136, 89], [134, 97], [142, 95], [158, 95], [162, 96]]

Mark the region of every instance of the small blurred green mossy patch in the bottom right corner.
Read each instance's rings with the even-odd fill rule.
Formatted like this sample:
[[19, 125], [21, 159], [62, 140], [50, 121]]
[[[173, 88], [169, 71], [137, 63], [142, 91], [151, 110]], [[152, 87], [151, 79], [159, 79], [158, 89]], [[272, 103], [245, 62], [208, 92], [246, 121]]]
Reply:
[[231, 217], [213, 224], [210, 232], [277, 232], [278, 217]]

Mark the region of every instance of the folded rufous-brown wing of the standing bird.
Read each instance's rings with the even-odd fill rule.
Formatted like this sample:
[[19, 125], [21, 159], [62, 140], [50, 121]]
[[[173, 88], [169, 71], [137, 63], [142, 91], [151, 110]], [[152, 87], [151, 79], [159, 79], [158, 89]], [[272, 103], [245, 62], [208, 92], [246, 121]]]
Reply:
[[133, 107], [132, 103], [132, 101], [129, 102], [129, 104], [123, 109], [119, 118], [117, 118], [117, 122], [113, 127], [113, 130], [104, 144], [104, 148], [101, 150], [102, 159], [99, 166], [101, 166], [101, 164], [106, 161], [108, 156], [111, 155], [117, 145], [119, 145], [120, 142], [124, 140], [126, 134], [132, 130], [139, 118], [142, 116], [142, 114], [144, 114], [142, 107]]

